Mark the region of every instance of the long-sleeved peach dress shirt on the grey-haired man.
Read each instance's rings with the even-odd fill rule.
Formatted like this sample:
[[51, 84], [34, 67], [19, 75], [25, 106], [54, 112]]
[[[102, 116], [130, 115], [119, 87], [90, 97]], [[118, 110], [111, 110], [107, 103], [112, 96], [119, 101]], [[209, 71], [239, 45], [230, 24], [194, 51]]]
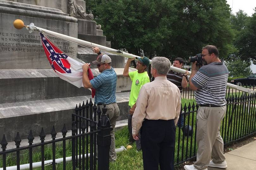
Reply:
[[180, 116], [180, 90], [166, 76], [157, 76], [140, 89], [132, 116], [132, 134], [137, 134], [143, 120], [171, 120], [175, 125]]

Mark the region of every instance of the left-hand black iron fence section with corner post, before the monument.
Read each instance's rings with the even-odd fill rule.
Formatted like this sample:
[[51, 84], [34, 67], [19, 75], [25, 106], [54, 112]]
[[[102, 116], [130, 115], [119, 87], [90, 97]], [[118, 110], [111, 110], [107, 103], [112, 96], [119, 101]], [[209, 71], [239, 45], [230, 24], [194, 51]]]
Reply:
[[[109, 169], [109, 148], [110, 148], [110, 131], [112, 127], [110, 127], [110, 120], [106, 115], [106, 105], [102, 108], [102, 114], [100, 108], [96, 107], [96, 105], [88, 101], [86, 104], [79, 104], [79, 107], [76, 105], [75, 114], [72, 114], [72, 135], [66, 136], [67, 129], [64, 124], [62, 129], [62, 138], [56, 139], [56, 130], [55, 127], [52, 127], [51, 135], [52, 140], [45, 141], [46, 134], [44, 133], [44, 129], [41, 129], [39, 134], [40, 143], [33, 144], [34, 136], [32, 134], [32, 130], [28, 135], [28, 146], [20, 147], [21, 139], [19, 133], [17, 133], [15, 138], [15, 149], [7, 149], [7, 141], [5, 139], [5, 135], [3, 135], [3, 139], [1, 141], [1, 148], [3, 151], [0, 152], [0, 156], [2, 156], [2, 167], [3, 170], [6, 170], [7, 167], [7, 155], [11, 154], [14, 160], [14, 165], [17, 166], [16, 169], [19, 170], [21, 166], [27, 166], [29, 169], [35, 168], [33, 165], [33, 150], [37, 147], [40, 147], [41, 150], [41, 169], [45, 169], [45, 147], [48, 145], [52, 149], [52, 160], [50, 163], [52, 164], [51, 169], [56, 169], [56, 144], [62, 145], [62, 159], [63, 169], [66, 169], [66, 160], [69, 160], [67, 157], [66, 150], [68, 146], [71, 146], [71, 161], [72, 166], [69, 166], [67, 169], [98, 169], [98, 170], [107, 170]], [[98, 117], [98, 118], [96, 118]], [[97, 137], [97, 148], [96, 148], [96, 137]], [[20, 157], [21, 151], [28, 150], [28, 162], [29, 165], [20, 165]], [[97, 164], [96, 164], [96, 156], [97, 156]], [[58, 159], [59, 160], [59, 159]], [[8, 164], [9, 166], [9, 164]], [[0, 166], [1, 167], [1, 166]]]

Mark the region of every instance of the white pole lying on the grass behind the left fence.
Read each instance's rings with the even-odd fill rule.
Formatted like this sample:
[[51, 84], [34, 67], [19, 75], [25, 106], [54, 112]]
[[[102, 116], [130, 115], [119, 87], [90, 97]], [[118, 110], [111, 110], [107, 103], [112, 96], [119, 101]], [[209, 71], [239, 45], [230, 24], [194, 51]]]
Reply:
[[[116, 149], [116, 152], [121, 152], [123, 150], [126, 150], [124, 146], [121, 146], [120, 148]], [[79, 158], [82, 158], [82, 155], [78, 156]], [[84, 155], [84, 157], [86, 158], [86, 154]], [[90, 157], [90, 154], [88, 153], [88, 158]], [[66, 162], [70, 162], [72, 161], [72, 156], [66, 157]], [[58, 158], [55, 159], [55, 163], [62, 163], [63, 162], [63, 158]], [[44, 165], [51, 165], [52, 164], [52, 160], [47, 160], [44, 162]], [[32, 163], [32, 167], [34, 168], [38, 168], [41, 167], [42, 162], [34, 162]], [[29, 169], [29, 163], [27, 164], [23, 164], [20, 165], [20, 170], [25, 170], [25, 169]], [[3, 170], [3, 168], [0, 168], [0, 170]], [[12, 167], [6, 167], [6, 170], [17, 170], [17, 166], [12, 166]]]

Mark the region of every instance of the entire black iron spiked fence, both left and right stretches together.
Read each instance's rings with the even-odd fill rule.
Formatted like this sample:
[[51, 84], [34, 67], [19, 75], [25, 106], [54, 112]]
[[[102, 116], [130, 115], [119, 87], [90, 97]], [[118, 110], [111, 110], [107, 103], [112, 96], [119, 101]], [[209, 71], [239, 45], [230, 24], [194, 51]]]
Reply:
[[[254, 86], [244, 86], [254, 90]], [[183, 91], [183, 98], [194, 100], [194, 92], [188, 91], [185, 94], [186, 89]], [[256, 91], [255, 91], [256, 92]], [[189, 94], [189, 95], [187, 95]], [[185, 95], [185, 97], [184, 97]], [[190, 96], [190, 97], [189, 97]], [[248, 135], [256, 133], [256, 93], [245, 93], [232, 88], [227, 88], [226, 94], [227, 110], [226, 116], [222, 120], [220, 133], [223, 138], [224, 144], [229, 144], [236, 140], [242, 139]], [[196, 145], [196, 113], [199, 106], [195, 101], [187, 102], [182, 106], [184, 116], [183, 126], [177, 127], [176, 130], [176, 143], [175, 143], [175, 165], [190, 160], [196, 157], [197, 145]], [[33, 168], [33, 150], [40, 147], [40, 168], [44, 169], [45, 165], [45, 148], [47, 145], [52, 145], [51, 150], [51, 166], [52, 169], [56, 168], [56, 144], [61, 143], [63, 154], [62, 159], [63, 169], [66, 169], [68, 160], [66, 157], [66, 147], [71, 147], [71, 162], [72, 165], [67, 169], [109, 169], [109, 147], [110, 147], [110, 122], [106, 115], [107, 109], [102, 109], [88, 101], [86, 104], [80, 104], [76, 106], [75, 114], [72, 114], [72, 135], [67, 136], [67, 129], [65, 124], [62, 129], [62, 138], [56, 139], [56, 131], [53, 126], [51, 135], [52, 140], [45, 141], [44, 129], [41, 129], [40, 143], [33, 144], [33, 134], [30, 130], [28, 135], [28, 146], [20, 147], [21, 139], [19, 133], [15, 138], [15, 149], [7, 149], [7, 141], [5, 136], [1, 141], [0, 152], [2, 156], [2, 167], [6, 169], [7, 155], [11, 154], [14, 159], [14, 165], [17, 169], [20, 169], [20, 157], [21, 151], [28, 150], [28, 167]], [[181, 123], [181, 122], [180, 122]], [[97, 142], [96, 142], [97, 138]], [[97, 145], [96, 145], [97, 143]], [[96, 147], [98, 146], [98, 147]], [[97, 153], [98, 148], [98, 154]], [[97, 159], [96, 159], [97, 158]], [[97, 160], [97, 161], [96, 161]], [[1, 161], [0, 161], [1, 165]], [[0, 166], [1, 167], [1, 166]]]

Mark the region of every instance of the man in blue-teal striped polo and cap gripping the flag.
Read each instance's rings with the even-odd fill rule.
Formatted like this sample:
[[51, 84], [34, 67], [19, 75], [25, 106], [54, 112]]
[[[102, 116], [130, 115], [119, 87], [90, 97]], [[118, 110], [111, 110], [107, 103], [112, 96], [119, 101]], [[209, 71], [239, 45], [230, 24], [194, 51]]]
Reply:
[[[99, 48], [94, 48], [95, 53], [100, 53]], [[109, 161], [115, 161], [117, 156], [115, 152], [115, 132], [114, 128], [116, 125], [116, 120], [119, 117], [120, 111], [116, 103], [116, 81], [117, 76], [113, 67], [111, 67], [111, 58], [107, 54], [99, 54], [97, 59], [92, 62], [97, 65], [99, 74], [97, 77], [89, 80], [88, 69], [89, 65], [86, 63], [82, 66], [83, 68], [83, 86], [84, 88], [94, 88], [95, 93], [95, 103], [100, 106], [102, 110], [103, 104], [106, 104], [107, 112], [106, 114], [110, 118], [111, 127], [113, 130], [111, 134], [111, 145], [109, 150]]]

